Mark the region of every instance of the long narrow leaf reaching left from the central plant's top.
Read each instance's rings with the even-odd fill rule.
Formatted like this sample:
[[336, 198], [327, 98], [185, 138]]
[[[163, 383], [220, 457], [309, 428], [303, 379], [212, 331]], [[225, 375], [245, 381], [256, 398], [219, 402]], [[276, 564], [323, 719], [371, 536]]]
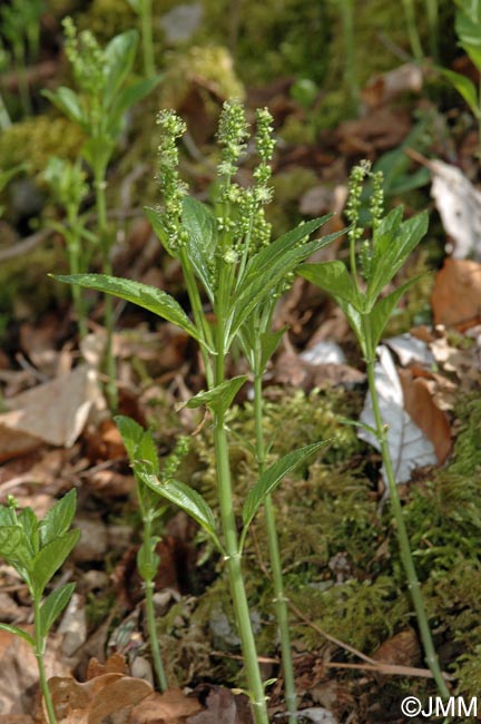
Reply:
[[72, 274], [68, 276], [62, 274], [52, 274], [52, 277], [59, 282], [78, 284], [88, 290], [112, 294], [114, 296], [118, 296], [120, 300], [137, 304], [137, 306], [141, 306], [144, 310], [148, 310], [149, 312], [154, 312], [154, 314], [161, 316], [164, 320], [167, 320], [167, 322], [176, 324], [184, 330], [184, 332], [187, 332], [187, 334], [202, 343], [196, 327], [190, 322], [180, 304], [176, 302], [170, 294], [167, 294], [155, 286], [134, 282], [132, 280], [120, 278], [118, 276], [107, 276], [106, 274]]

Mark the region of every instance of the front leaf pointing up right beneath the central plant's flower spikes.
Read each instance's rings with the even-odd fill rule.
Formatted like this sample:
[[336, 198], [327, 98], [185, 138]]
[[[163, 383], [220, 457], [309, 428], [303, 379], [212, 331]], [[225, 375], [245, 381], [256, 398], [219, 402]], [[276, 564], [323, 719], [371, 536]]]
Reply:
[[[308, 223], [304, 226], [308, 226]], [[245, 277], [232, 302], [232, 311], [228, 315], [229, 319], [232, 315], [229, 344], [253, 310], [272, 296], [287, 274], [295, 271], [311, 254], [337, 238], [340, 234], [330, 234], [297, 246], [291, 239], [287, 248], [283, 248], [282, 239], [284, 237], [281, 237], [253, 256], [247, 262]]]

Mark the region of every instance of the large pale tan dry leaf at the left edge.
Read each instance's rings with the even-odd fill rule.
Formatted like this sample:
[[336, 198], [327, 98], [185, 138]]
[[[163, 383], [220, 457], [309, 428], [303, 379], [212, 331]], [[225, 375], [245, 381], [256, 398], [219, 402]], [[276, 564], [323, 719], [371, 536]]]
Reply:
[[101, 404], [101, 393], [96, 372], [81, 364], [70, 374], [7, 400], [7, 404], [11, 412], [0, 414], [0, 460], [41, 442], [71, 447], [92, 407]]

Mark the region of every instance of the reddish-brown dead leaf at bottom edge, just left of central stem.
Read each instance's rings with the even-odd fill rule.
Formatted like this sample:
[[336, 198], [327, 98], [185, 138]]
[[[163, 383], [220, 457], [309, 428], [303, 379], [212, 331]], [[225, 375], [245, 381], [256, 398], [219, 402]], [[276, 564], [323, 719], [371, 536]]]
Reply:
[[200, 710], [196, 697], [169, 688], [165, 694], [151, 694], [138, 704], [130, 713], [129, 724], [185, 724], [187, 716]]

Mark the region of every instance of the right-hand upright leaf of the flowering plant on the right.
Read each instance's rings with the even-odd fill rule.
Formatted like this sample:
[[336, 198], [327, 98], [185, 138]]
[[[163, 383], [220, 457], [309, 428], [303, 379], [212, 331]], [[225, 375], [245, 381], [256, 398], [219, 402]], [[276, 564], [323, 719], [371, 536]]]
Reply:
[[375, 236], [373, 271], [366, 292], [366, 312], [371, 311], [384, 286], [395, 276], [409, 255], [428, 231], [428, 212], [403, 222], [391, 234]]

